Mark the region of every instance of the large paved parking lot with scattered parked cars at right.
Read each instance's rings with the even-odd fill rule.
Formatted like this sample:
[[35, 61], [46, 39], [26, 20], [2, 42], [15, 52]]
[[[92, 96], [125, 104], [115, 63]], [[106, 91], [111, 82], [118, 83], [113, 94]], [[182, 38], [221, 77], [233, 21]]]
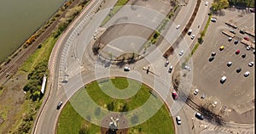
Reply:
[[[240, 20], [236, 21], [236, 24], [240, 27], [233, 29], [225, 25], [227, 20], [232, 18], [234, 20], [236, 16], [242, 16]], [[224, 16], [217, 16], [216, 18], [217, 22], [211, 22], [204, 43], [198, 47], [192, 57], [194, 66], [193, 85], [199, 89], [199, 94], [204, 93], [206, 96], [214, 96], [229, 109], [235, 109], [238, 114], [243, 114], [250, 109], [254, 109], [254, 65], [253, 67], [248, 66], [250, 62], [254, 62], [254, 54], [252, 48], [247, 50], [247, 46], [240, 42], [243, 36], [248, 35], [243, 35], [239, 31], [243, 28], [252, 30], [254, 14], [237, 9], [226, 10]], [[229, 42], [229, 37], [222, 34], [223, 30], [235, 30], [238, 37]], [[236, 40], [239, 41], [237, 44], [234, 43]], [[254, 40], [252, 36], [250, 36], [250, 40]], [[219, 50], [221, 46], [224, 46], [222, 51]], [[240, 50], [240, 53], [236, 54], [237, 50]], [[212, 52], [215, 52], [216, 55], [210, 62], [209, 58]], [[241, 57], [243, 54], [246, 54], [245, 58]], [[228, 62], [232, 62], [230, 67], [227, 66]], [[239, 73], [236, 72], [238, 68], [241, 68]], [[246, 71], [250, 72], [247, 77], [244, 76]], [[220, 79], [224, 75], [227, 79], [221, 84]], [[247, 118], [238, 121], [253, 120], [250, 117]]]

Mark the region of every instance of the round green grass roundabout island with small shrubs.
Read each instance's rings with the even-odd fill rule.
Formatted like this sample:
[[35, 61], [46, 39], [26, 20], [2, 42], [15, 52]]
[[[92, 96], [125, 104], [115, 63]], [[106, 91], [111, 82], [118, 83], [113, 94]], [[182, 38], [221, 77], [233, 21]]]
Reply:
[[[131, 91], [137, 87], [139, 87], [137, 90]], [[109, 96], [108, 93], [103, 91], [107, 90], [107, 88], [115, 88], [115, 90], [119, 90], [120, 92], [127, 90], [132, 93], [125, 93], [125, 95], [128, 94], [131, 97], [125, 97], [125, 99], [112, 98], [111, 95]], [[117, 91], [117, 94], [119, 91]], [[90, 104], [84, 104], [86, 102], [90, 103], [83, 100], [85, 97], [84, 94], [88, 94], [89, 96], [86, 98], [90, 98], [91, 101], [96, 103], [96, 108], [89, 107]], [[61, 110], [61, 115], [56, 126], [56, 133], [105, 134], [108, 133], [109, 129], [102, 126], [106, 124], [108, 126], [109, 122], [111, 122], [110, 117], [113, 117], [113, 119], [119, 118], [118, 128], [122, 128], [116, 131], [116, 133], [174, 133], [172, 116], [164, 104], [160, 106], [160, 109], [153, 116], [148, 118], [148, 120], [142, 121], [142, 123], [140, 123], [141, 115], [132, 114], [131, 118], [129, 118], [129, 114], [125, 114], [125, 112], [140, 108], [149, 98], [160, 100], [160, 97], [155, 94], [153, 95], [148, 86], [139, 81], [120, 77], [92, 81], [76, 92]], [[76, 104], [82, 106], [79, 106], [78, 109]], [[152, 103], [152, 105], [154, 106], [155, 104]], [[86, 112], [77, 112], [80, 110]], [[103, 114], [104, 110], [113, 111], [113, 113]], [[83, 113], [87, 114], [84, 115]], [[144, 110], [143, 114], [147, 114], [147, 111]], [[97, 119], [100, 119], [101, 126], [91, 123]]]

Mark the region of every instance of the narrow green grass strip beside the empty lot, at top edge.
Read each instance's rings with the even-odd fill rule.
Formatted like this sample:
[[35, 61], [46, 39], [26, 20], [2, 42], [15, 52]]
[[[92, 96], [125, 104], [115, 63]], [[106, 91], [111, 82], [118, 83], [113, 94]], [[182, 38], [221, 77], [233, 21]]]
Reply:
[[102, 25], [105, 25], [111, 17], [116, 14], [120, 8], [122, 8], [129, 0], [118, 0], [117, 3], [114, 4], [112, 11], [108, 14], [108, 16], [102, 21]]

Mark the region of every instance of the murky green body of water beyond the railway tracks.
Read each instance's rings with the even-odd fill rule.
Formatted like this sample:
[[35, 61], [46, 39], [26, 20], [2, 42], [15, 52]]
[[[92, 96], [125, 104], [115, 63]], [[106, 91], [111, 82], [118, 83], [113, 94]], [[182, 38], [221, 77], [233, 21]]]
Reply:
[[66, 0], [0, 0], [0, 63]]

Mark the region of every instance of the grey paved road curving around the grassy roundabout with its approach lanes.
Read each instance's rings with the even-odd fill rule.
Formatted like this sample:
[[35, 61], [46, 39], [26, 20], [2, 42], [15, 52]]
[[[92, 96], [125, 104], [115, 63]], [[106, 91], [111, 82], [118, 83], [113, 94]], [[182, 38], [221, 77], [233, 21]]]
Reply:
[[[102, 8], [112, 7], [115, 2], [116, 1], [114, 0], [109, 0], [107, 3], [104, 3]], [[88, 14], [95, 5], [96, 1], [91, 1], [87, 8], [84, 9], [82, 14]], [[179, 14], [177, 14], [175, 24], [181, 25], [180, 30], [182, 30], [186, 25], [194, 8], [195, 1], [189, 1], [186, 6], [181, 8]], [[198, 35], [199, 29], [197, 28], [197, 25], [201, 25], [205, 21], [204, 18], [207, 16], [207, 9], [208, 7], [206, 7], [202, 2], [199, 9], [199, 13], [201, 14], [196, 16], [195, 23], [193, 23], [191, 26], [191, 28], [194, 30], [193, 34]], [[67, 31], [61, 35], [60, 39], [55, 44], [54, 51], [51, 54], [49, 61], [50, 79], [48, 81], [46, 92], [46, 94], [49, 94], [49, 98], [45, 98], [44, 100], [45, 105], [43, 104], [44, 107], [42, 107], [42, 112], [39, 114], [39, 118], [34, 126], [35, 129], [33, 133], [55, 133], [57, 120], [61, 113], [61, 109], [56, 109], [56, 104], [60, 101], [62, 101], [63, 104], [67, 103], [68, 98], [71, 98], [73, 93], [78, 91], [79, 88], [83, 87], [84, 84], [106, 76], [131, 77], [132, 79], [142, 81], [149, 87], [152, 87], [155, 92], [160, 94], [160, 97], [163, 100], [166, 100], [167, 107], [170, 109], [172, 116], [175, 117], [177, 114], [181, 116], [183, 124], [182, 126], [175, 126], [176, 132], [180, 134], [196, 132], [195, 129], [191, 129], [193, 126], [191, 117], [194, 117], [195, 111], [189, 108], [189, 106], [185, 105], [185, 103], [182, 101], [173, 101], [170, 96], [170, 92], [172, 92], [170, 91], [170, 89], [172, 89], [172, 83], [170, 82], [172, 81], [172, 77], [167, 73], [168, 69], [164, 66], [166, 59], [162, 57], [162, 53], [168, 47], [165, 46], [167, 43], [162, 42], [160, 47], [148, 54], [145, 59], [138, 61], [136, 64], [130, 65], [131, 72], [128, 74], [124, 72], [123, 69], [120, 69], [115, 65], [111, 65], [111, 68], [105, 68], [104, 65], [106, 64], [102, 64], [102, 62], [99, 62], [98, 58], [93, 57], [90, 48], [90, 45], [93, 43], [91, 40], [92, 35], [94, 31], [97, 30], [97, 25], [91, 24], [95, 24], [94, 22], [98, 20], [97, 18], [91, 19], [90, 23], [79, 32], [74, 27], [78, 26], [80, 23], [83, 23], [83, 19], [83, 16], [80, 16], [74, 20], [73, 24], [68, 27]], [[73, 36], [73, 31], [77, 32], [77, 36]], [[173, 35], [174, 32], [171, 31], [176, 31], [175, 26], [171, 26], [171, 29], [169, 32], [167, 32], [167, 35], [170, 35], [170, 38], [175, 38], [178, 36], [178, 34]], [[68, 42], [68, 38], [70, 36], [72, 36], [74, 39], [70, 44], [71, 46], [66, 49], [65, 45], [62, 44]], [[196, 42], [196, 39], [191, 40], [189, 36], [185, 36], [183, 42], [180, 43], [180, 49], [175, 50], [176, 53], [178, 53], [181, 49], [184, 49], [186, 52], [193, 42]], [[90, 45], [87, 46], [88, 44]], [[181, 60], [181, 57], [176, 55], [172, 58], [172, 60], [170, 59], [170, 64], [175, 65], [179, 60]], [[143, 67], [148, 67], [148, 65], [150, 65], [150, 71], [152, 71], [152, 73], [147, 74], [146, 71], [143, 70]], [[190, 77], [193, 75], [193, 71], [184, 71]], [[64, 80], [64, 74], [68, 75], [67, 83], [62, 82]], [[175, 120], [175, 118], [173, 119]]]

